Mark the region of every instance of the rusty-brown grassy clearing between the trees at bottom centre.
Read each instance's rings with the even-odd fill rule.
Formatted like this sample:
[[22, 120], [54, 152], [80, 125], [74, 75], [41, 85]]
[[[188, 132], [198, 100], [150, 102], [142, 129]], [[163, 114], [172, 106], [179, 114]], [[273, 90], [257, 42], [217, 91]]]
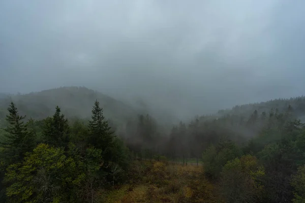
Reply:
[[202, 167], [145, 161], [134, 163], [133, 182], [101, 191], [100, 202], [219, 202]]

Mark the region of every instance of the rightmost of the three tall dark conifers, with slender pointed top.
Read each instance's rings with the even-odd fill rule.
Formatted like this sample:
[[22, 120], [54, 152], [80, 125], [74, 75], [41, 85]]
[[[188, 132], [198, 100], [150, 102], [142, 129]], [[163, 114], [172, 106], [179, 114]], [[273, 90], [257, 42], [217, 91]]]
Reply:
[[92, 120], [89, 121], [90, 144], [107, 153], [112, 146], [113, 136], [111, 127], [107, 121], [104, 121], [103, 109], [98, 100], [95, 101], [92, 109]]

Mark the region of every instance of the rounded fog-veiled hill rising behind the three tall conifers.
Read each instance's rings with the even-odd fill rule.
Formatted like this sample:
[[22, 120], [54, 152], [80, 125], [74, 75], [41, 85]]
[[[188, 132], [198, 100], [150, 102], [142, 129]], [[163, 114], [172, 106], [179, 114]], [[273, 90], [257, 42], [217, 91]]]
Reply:
[[0, 98], [0, 117], [3, 117], [4, 110], [13, 100], [21, 115], [35, 119], [53, 115], [57, 105], [68, 118], [89, 118], [96, 99], [103, 107], [105, 118], [117, 124], [136, 116], [131, 106], [100, 92], [85, 87], [60, 87], [29, 94], [3, 96]]

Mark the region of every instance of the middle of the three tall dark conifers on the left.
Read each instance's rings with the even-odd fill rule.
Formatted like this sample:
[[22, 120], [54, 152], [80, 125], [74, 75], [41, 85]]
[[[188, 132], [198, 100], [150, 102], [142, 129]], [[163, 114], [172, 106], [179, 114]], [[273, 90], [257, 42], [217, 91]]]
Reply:
[[69, 124], [64, 114], [60, 114], [60, 108], [56, 106], [53, 117], [44, 121], [43, 133], [46, 143], [55, 147], [67, 147], [69, 143]]

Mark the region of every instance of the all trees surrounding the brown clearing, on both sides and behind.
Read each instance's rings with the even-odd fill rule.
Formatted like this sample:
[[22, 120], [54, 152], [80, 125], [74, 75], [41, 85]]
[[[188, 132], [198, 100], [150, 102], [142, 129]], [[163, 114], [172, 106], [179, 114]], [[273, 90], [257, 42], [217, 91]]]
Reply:
[[219, 202], [304, 202], [301, 106], [274, 106], [248, 116], [234, 107], [170, 130], [139, 115], [117, 134], [97, 100], [89, 121], [68, 120], [59, 107], [26, 120], [11, 103], [0, 137], [1, 202], [95, 202], [101, 189], [134, 178], [134, 159], [187, 165], [191, 158], [203, 163]]

